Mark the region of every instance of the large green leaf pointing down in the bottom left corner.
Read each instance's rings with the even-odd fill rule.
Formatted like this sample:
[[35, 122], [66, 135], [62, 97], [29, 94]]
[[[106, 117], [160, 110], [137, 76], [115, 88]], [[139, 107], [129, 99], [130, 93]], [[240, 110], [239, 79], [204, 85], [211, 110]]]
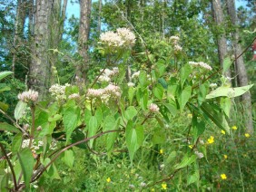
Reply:
[[25, 187], [29, 187], [34, 167], [33, 154], [30, 149], [22, 149], [18, 152], [18, 158], [24, 174]]

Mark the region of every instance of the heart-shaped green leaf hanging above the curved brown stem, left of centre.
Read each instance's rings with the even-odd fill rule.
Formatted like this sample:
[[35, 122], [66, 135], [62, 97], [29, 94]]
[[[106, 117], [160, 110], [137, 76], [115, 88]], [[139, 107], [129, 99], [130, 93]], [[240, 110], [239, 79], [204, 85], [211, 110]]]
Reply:
[[78, 107], [69, 107], [64, 110], [64, 130], [66, 132], [66, 143], [71, 137], [72, 132], [77, 126], [80, 118], [80, 110]]

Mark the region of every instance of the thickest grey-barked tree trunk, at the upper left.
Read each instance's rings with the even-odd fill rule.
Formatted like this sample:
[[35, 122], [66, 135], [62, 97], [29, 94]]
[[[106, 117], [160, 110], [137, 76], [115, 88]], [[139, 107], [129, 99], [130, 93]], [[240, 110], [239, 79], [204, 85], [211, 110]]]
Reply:
[[34, 47], [30, 65], [29, 85], [39, 91], [39, 99], [44, 100], [49, 88], [50, 63], [48, 59], [49, 12], [51, 0], [37, 0], [34, 14]]

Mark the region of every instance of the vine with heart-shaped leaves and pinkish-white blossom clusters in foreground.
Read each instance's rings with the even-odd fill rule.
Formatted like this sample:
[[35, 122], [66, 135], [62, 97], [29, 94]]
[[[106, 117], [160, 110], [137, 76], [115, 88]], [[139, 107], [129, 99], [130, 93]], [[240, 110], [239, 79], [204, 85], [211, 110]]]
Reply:
[[[173, 57], [182, 52], [179, 40], [177, 37], [170, 40]], [[141, 187], [162, 183], [165, 190], [166, 182], [177, 172], [196, 165], [206, 155], [202, 135], [207, 125], [214, 123], [230, 133], [227, 119], [231, 98], [251, 86], [231, 89], [223, 77], [218, 88], [210, 89], [213, 69], [209, 64], [175, 60], [173, 71], [169, 62], [156, 59], [148, 50], [142, 54], [147, 66], [133, 72], [128, 81], [125, 79], [126, 61], [135, 43], [133, 32], [124, 28], [117, 29], [116, 33], [106, 32], [100, 36], [99, 43], [99, 49], [107, 58], [106, 64], [84, 94], [77, 86], [69, 84], [53, 85], [49, 90], [54, 98], [51, 102], [37, 101], [40, 92], [19, 94], [15, 120], [12, 120], [14, 125], [5, 123], [4, 128], [16, 134], [12, 144], [7, 146], [11, 153], [7, 154], [1, 144], [7, 162], [5, 168], [8, 168], [3, 178], [6, 182], [2, 182], [4, 187], [29, 188], [45, 174], [59, 178], [54, 162], [62, 157], [64, 163], [73, 168], [74, 147], [96, 154], [96, 150], [103, 150], [109, 157], [116, 149], [128, 149], [132, 163], [137, 159], [136, 152], [144, 147], [153, 150], [153, 156], [161, 157], [164, 164], [160, 168], [162, 178], [143, 182]], [[26, 107], [30, 109], [31, 118], [24, 129], [20, 124]], [[165, 155], [165, 149], [154, 150], [158, 145], [172, 144], [168, 139], [172, 135], [167, 130], [172, 130], [173, 118], [184, 111], [191, 114], [191, 118], [188, 129], [179, 133], [182, 135], [180, 151]], [[211, 136], [208, 143], [213, 142]], [[197, 166], [192, 169], [194, 174], [189, 176], [188, 185], [199, 182], [199, 169]], [[111, 178], [106, 181], [112, 183]]]

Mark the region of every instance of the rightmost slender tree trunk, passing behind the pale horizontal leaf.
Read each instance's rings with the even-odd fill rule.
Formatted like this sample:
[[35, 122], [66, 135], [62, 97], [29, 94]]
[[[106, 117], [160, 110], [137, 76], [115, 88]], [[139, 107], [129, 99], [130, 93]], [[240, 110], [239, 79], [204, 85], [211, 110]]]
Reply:
[[[231, 23], [236, 27], [237, 14], [235, 10], [234, 0], [227, 0], [227, 7], [228, 7], [228, 13], [231, 17]], [[236, 29], [235, 32], [233, 33], [233, 45], [234, 45], [235, 58], [237, 58], [242, 52], [239, 39], [240, 39], [239, 31], [238, 29]], [[246, 72], [246, 68], [245, 68], [242, 56], [236, 59], [235, 65], [238, 72], [239, 85], [240, 86], [248, 85], [248, 76], [247, 76], [247, 72]], [[245, 119], [246, 131], [252, 133], [253, 126], [252, 126], [252, 115], [251, 115], [251, 93], [248, 91], [245, 94], [243, 94], [241, 96], [241, 101], [243, 103], [244, 110], [245, 110], [244, 119]]]

